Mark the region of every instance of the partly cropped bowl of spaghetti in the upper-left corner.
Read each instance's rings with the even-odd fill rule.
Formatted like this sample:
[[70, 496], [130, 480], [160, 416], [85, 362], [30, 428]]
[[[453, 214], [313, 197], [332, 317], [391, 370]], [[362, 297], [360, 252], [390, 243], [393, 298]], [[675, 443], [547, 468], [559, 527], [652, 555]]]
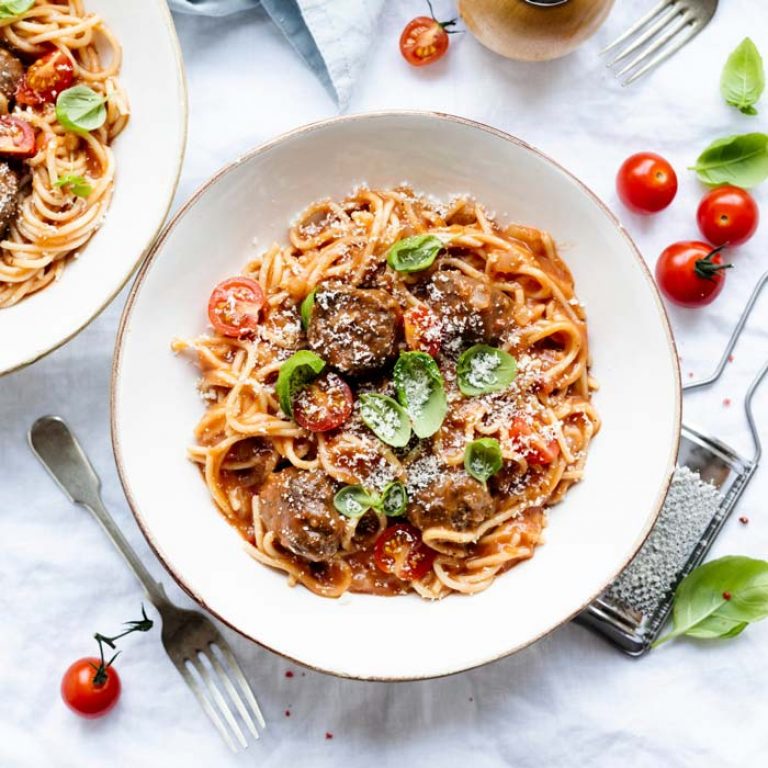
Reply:
[[0, 10], [2, 374], [85, 327], [146, 253], [176, 189], [186, 96], [163, 0]]

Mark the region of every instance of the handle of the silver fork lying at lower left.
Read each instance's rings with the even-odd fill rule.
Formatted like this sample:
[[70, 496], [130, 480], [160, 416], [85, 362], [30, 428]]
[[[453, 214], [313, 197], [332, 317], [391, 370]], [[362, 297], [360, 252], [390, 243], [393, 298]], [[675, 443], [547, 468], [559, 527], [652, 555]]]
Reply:
[[85, 507], [98, 520], [155, 607], [166, 604], [168, 598], [162, 585], [152, 578], [107, 512], [101, 500], [99, 476], [66, 422], [58, 416], [43, 416], [29, 430], [29, 444], [69, 500]]

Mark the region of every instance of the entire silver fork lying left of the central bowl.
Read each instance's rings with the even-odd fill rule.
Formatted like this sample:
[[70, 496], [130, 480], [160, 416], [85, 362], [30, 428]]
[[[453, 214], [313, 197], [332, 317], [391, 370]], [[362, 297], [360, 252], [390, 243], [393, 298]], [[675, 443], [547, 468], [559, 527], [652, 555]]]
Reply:
[[29, 430], [29, 444], [69, 500], [85, 507], [99, 521], [144, 585], [147, 597], [162, 619], [161, 636], [166, 653], [224, 741], [233, 752], [237, 752], [238, 744], [246, 749], [248, 742], [222, 689], [254, 738], [259, 738], [257, 724], [261, 728], [267, 726], [248, 681], [221, 633], [202, 613], [177, 608], [168, 600], [162, 584], [152, 578], [104, 507], [99, 476], [62, 419], [58, 416], [38, 419]]

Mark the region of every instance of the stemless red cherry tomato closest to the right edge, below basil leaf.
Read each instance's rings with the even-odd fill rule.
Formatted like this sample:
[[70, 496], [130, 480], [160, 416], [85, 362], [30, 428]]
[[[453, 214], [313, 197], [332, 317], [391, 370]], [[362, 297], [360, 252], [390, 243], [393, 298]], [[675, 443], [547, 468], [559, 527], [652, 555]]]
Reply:
[[701, 234], [714, 245], [741, 245], [755, 234], [760, 211], [740, 187], [717, 187], [704, 195], [697, 214]]

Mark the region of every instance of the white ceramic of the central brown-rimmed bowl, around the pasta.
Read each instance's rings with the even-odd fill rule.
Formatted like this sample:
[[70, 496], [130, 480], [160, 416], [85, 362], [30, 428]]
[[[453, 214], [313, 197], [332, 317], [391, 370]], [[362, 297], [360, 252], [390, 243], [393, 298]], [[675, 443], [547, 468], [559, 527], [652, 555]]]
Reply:
[[[211, 287], [284, 240], [313, 200], [408, 180], [440, 197], [469, 192], [501, 220], [553, 233], [585, 302], [603, 429], [586, 479], [551, 511], [536, 556], [473, 597], [291, 589], [243, 552], [185, 458], [203, 411], [198, 373], [170, 352], [206, 330]], [[338, 675], [445, 675], [512, 653], [566, 622], [648, 534], [677, 454], [680, 383], [663, 306], [637, 249], [605, 206], [559, 165], [477, 123], [429, 113], [330, 120], [223, 169], [155, 244], [126, 307], [113, 374], [113, 442], [123, 485], [174, 578], [223, 621], [287, 657]]]

